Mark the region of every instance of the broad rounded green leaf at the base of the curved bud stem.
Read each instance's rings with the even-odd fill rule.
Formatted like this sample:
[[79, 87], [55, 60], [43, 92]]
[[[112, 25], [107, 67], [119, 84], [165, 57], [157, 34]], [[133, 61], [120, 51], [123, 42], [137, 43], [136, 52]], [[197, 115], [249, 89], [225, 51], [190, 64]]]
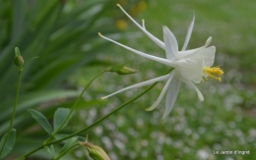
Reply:
[[58, 108], [57, 111], [54, 113], [54, 119], [53, 119], [53, 128], [54, 132], [55, 131], [60, 131], [63, 129], [65, 126], [67, 126], [71, 116], [66, 120], [65, 124], [63, 126], [62, 123], [64, 123], [65, 119], [68, 117], [70, 113], [70, 110], [67, 108]]

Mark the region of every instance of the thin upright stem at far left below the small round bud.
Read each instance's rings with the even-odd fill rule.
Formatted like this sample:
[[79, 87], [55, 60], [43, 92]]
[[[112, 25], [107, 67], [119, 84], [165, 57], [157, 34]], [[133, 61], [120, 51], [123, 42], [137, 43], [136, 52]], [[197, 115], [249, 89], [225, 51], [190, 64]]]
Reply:
[[15, 119], [15, 113], [16, 113], [16, 108], [17, 108], [17, 103], [18, 103], [18, 98], [19, 98], [19, 92], [20, 92], [20, 86], [21, 86], [22, 72], [23, 72], [23, 70], [18, 70], [18, 85], [17, 85], [17, 90], [16, 90], [16, 97], [15, 97], [15, 101], [14, 101], [14, 108], [13, 108], [12, 118], [11, 118], [11, 122], [10, 122], [10, 126], [9, 126], [9, 129], [8, 129], [7, 136], [4, 139], [3, 146], [2, 146], [2, 148], [0, 150], [0, 155], [2, 154], [2, 151], [4, 149], [6, 141], [9, 138], [9, 135], [10, 135], [11, 130], [13, 128], [14, 119]]

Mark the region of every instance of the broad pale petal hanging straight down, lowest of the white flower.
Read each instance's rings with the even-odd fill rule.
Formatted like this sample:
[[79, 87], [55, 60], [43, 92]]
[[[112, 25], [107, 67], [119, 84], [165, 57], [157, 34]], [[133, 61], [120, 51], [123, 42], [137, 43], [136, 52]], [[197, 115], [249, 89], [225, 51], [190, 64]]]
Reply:
[[172, 79], [167, 89], [165, 110], [162, 119], [167, 117], [173, 108], [179, 91], [180, 80]]

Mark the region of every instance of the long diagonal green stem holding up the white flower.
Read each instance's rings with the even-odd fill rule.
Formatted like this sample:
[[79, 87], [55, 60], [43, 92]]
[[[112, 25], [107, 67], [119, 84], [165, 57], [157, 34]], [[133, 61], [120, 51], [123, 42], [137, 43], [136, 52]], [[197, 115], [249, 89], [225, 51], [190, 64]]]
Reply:
[[37, 150], [39, 149], [42, 149], [44, 146], [46, 145], [50, 145], [50, 144], [54, 144], [54, 143], [57, 143], [57, 142], [60, 142], [60, 141], [63, 141], [67, 138], [70, 138], [72, 136], [75, 136], [75, 135], [78, 135], [80, 133], [84, 133], [88, 130], [90, 130], [91, 128], [95, 127], [97, 124], [99, 124], [100, 122], [102, 122], [103, 120], [105, 120], [106, 118], [108, 118], [109, 116], [113, 115], [114, 113], [116, 113], [117, 111], [119, 111], [120, 109], [122, 109], [123, 107], [127, 106], [128, 104], [132, 103], [133, 101], [137, 100], [138, 98], [140, 98], [142, 95], [144, 95], [145, 93], [147, 93], [148, 91], [150, 91], [158, 82], [155, 82], [154, 84], [152, 84], [149, 88], [147, 88], [146, 90], [144, 90], [143, 92], [141, 92], [139, 95], [137, 95], [136, 97], [132, 98], [131, 100], [125, 102], [124, 104], [120, 105], [119, 107], [117, 107], [116, 109], [114, 109], [113, 111], [111, 111], [110, 113], [108, 113], [107, 115], [103, 116], [102, 118], [98, 119], [94, 124], [90, 125], [89, 127], [87, 128], [84, 128], [83, 130], [79, 131], [79, 132], [76, 132], [76, 133], [72, 133], [72, 134], [69, 134], [65, 137], [62, 137], [60, 139], [57, 139], [57, 140], [54, 140], [54, 141], [51, 141], [51, 142], [47, 142], [47, 143], [44, 143], [40, 146], [38, 146], [37, 148], [33, 149], [32, 151], [24, 154], [22, 157], [27, 157], [29, 155], [31, 155], [32, 153], [36, 152]]

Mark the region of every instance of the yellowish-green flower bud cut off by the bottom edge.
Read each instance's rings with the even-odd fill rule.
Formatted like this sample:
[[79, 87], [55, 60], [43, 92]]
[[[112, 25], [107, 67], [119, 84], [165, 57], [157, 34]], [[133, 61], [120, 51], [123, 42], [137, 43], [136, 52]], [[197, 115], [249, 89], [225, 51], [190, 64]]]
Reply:
[[110, 160], [105, 151], [97, 145], [94, 145], [86, 140], [86, 142], [79, 142], [87, 148], [89, 156], [94, 160]]

